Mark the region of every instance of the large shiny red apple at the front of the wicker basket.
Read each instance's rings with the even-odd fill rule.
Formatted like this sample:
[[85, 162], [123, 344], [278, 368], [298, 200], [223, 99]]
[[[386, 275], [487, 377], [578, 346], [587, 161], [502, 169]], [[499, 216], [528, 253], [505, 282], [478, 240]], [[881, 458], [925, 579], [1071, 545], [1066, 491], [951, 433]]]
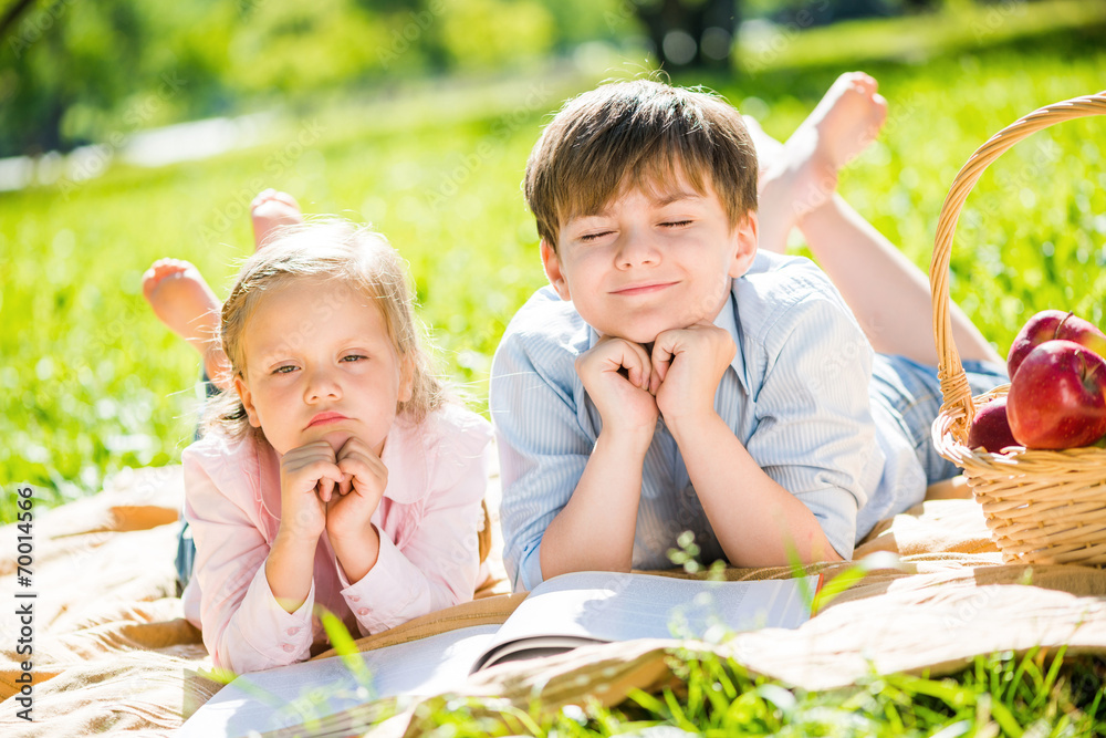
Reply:
[[1089, 446], [1106, 435], [1106, 360], [1074, 341], [1045, 341], [1018, 368], [1006, 413], [1026, 448]]

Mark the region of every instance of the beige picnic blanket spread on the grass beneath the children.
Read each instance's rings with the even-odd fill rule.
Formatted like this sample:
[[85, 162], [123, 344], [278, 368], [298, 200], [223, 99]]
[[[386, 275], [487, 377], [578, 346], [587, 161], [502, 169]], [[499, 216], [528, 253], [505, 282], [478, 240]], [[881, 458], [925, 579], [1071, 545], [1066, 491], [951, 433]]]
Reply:
[[[205, 676], [210, 659], [175, 596], [173, 557], [182, 498], [179, 467], [149, 468], [116, 476], [94, 497], [36, 509], [30, 589], [17, 585], [17, 563], [9, 558], [18, 530], [0, 529], [0, 735], [168, 735], [221, 688]], [[497, 521], [494, 491], [490, 498]], [[869, 572], [802, 627], [742, 633], [723, 645], [699, 647], [807, 689], [844, 686], [875, 672], [948, 673], [977, 655], [1035, 646], [1066, 644], [1070, 654], [1106, 654], [1106, 571], [1003, 564], [972, 500], [929, 499], [884, 521], [856, 558], [879, 551], [897, 554], [899, 567]], [[492, 563], [502, 576], [494, 555]], [[830, 576], [846, 567], [806, 571]], [[786, 568], [726, 571], [729, 579], [792, 574]], [[25, 601], [14, 597], [17, 591], [35, 593], [32, 723], [17, 717], [24, 707], [18, 701], [21, 662], [28, 659], [15, 645], [21, 624], [13, 603]], [[358, 645], [371, 649], [501, 623], [522, 601], [509, 594], [502, 579], [480, 594]], [[521, 706], [535, 694], [550, 708], [580, 703], [584, 694], [617, 704], [630, 688], [656, 689], [672, 680], [666, 659], [672, 645], [587, 646], [504, 664], [471, 677], [459, 690], [499, 695]], [[397, 735], [408, 729], [414, 728], [403, 720], [380, 728]]]

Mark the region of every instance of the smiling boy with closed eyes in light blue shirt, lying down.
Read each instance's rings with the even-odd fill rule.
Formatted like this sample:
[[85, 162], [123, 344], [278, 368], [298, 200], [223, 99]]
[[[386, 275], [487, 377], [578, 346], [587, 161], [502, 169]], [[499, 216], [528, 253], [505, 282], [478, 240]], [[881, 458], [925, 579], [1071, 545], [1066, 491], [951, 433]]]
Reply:
[[[517, 590], [665, 568], [686, 530], [707, 562], [847, 559], [954, 475], [928, 443], [928, 285], [834, 195], [885, 115], [854, 73], [786, 145], [754, 131], [760, 220], [757, 152], [720, 100], [637, 80], [550, 123], [525, 194], [551, 287], [508, 326], [491, 377]], [[796, 225], [841, 292], [805, 259], [758, 254]], [[953, 331], [973, 387], [1004, 381], [959, 311]]]

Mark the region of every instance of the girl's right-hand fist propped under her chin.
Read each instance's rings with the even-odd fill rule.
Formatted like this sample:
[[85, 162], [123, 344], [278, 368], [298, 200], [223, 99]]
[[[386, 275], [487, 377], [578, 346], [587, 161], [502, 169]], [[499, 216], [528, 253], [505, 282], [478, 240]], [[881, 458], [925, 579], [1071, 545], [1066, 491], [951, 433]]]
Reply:
[[388, 486], [388, 468], [363, 440], [351, 437], [336, 454], [345, 484], [340, 485], [326, 506], [326, 533], [335, 539], [356, 541], [365, 536], [373, 513]]

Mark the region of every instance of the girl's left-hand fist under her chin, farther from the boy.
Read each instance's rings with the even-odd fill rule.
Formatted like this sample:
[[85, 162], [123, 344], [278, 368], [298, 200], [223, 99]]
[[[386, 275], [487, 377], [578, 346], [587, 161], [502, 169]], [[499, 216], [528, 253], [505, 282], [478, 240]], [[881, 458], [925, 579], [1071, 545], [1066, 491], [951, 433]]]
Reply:
[[280, 461], [280, 530], [294, 540], [317, 540], [326, 529], [326, 502], [343, 481], [334, 449], [325, 440], [293, 448]]

